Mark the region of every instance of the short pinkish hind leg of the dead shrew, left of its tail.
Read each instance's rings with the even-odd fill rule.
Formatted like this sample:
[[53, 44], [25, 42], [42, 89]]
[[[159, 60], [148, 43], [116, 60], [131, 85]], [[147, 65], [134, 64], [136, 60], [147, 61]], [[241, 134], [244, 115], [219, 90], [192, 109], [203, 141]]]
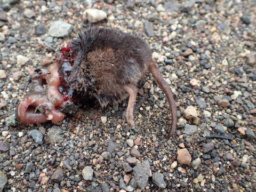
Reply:
[[126, 119], [130, 128], [134, 127], [133, 108], [136, 102], [137, 87], [133, 85], [125, 85], [124, 90], [130, 95], [128, 106], [126, 109]]

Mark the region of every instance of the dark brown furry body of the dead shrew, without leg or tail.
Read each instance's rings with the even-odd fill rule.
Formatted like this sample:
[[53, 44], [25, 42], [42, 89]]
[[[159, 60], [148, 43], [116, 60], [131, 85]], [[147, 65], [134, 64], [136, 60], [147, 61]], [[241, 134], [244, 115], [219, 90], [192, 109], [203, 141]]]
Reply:
[[67, 82], [105, 107], [128, 97], [124, 85], [138, 85], [151, 62], [151, 50], [139, 37], [117, 29], [91, 27], [71, 43], [77, 53]]

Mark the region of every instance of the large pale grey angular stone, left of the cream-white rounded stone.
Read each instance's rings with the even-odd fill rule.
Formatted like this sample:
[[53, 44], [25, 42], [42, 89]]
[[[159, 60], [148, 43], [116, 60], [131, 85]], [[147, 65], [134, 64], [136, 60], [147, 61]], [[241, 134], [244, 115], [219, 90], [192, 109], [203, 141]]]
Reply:
[[72, 30], [73, 26], [62, 20], [53, 21], [51, 23], [48, 34], [53, 37], [65, 37], [68, 36]]

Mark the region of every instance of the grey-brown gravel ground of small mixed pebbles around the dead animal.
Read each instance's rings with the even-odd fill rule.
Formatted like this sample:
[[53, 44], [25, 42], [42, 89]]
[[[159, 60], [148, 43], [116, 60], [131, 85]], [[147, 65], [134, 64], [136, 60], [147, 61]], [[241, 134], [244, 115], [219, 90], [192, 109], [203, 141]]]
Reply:
[[[0, 0], [0, 191], [255, 191], [255, 24], [255, 0]], [[150, 44], [175, 94], [177, 138], [164, 139], [170, 109], [150, 74], [135, 129], [127, 100], [60, 125], [15, 121], [29, 76], [92, 25]]]

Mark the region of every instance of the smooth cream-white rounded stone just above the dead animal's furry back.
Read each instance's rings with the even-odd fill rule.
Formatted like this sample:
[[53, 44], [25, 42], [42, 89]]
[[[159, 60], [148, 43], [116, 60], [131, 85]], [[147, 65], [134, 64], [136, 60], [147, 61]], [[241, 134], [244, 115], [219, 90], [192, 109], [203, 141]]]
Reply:
[[91, 23], [102, 21], [107, 18], [107, 13], [98, 9], [86, 9], [83, 13], [83, 19]]

